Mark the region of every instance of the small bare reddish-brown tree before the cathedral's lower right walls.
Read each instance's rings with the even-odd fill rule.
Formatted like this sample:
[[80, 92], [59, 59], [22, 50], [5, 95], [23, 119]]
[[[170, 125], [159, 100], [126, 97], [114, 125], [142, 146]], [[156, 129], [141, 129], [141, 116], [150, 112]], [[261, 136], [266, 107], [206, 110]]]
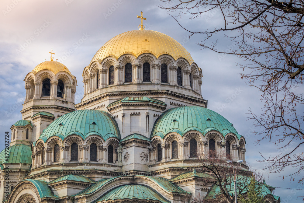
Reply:
[[[193, 168], [196, 172], [205, 173], [202, 188], [210, 188], [205, 199], [202, 197], [193, 197], [192, 202], [234, 202], [234, 178], [233, 168], [236, 169], [236, 182], [238, 194], [243, 193], [247, 189], [247, 184], [250, 182], [252, 173], [256, 179], [261, 182], [262, 176], [260, 173], [248, 171], [248, 167], [233, 163], [233, 168], [230, 163], [227, 163], [226, 152], [211, 151], [207, 155], [198, 152], [198, 164], [194, 164]], [[233, 157], [229, 157], [233, 159]], [[245, 169], [245, 170], [244, 170]], [[233, 194], [231, 196], [231, 194]]]

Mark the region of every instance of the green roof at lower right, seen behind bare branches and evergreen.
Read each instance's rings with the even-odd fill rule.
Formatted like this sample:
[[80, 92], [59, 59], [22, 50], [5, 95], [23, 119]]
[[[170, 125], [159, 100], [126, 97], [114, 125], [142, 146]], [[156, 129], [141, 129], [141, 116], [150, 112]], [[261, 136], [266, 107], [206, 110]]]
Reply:
[[[233, 175], [230, 176], [231, 177], [231, 181], [230, 184], [226, 185], [226, 188], [228, 189], [228, 191], [230, 192], [230, 196], [233, 196], [234, 194], [234, 183], [233, 183]], [[247, 185], [250, 184], [250, 178], [246, 177], [246, 176], [242, 176], [242, 175], [238, 175], [237, 176], [238, 180], [238, 187], [237, 187], [237, 193], [239, 193], [239, 191], [241, 190], [241, 194], [244, 194], [247, 192]], [[260, 182], [259, 182], [260, 183]], [[224, 183], [223, 183], [224, 184]], [[263, 197], [265, 197], [267, 194], [271, 194], [272, 196], [274, 196], [271, 191], [267, 188], [267, 186], [263, 183], [261, 184], [261, 190], [262, 190], [262, 195]], [[271, 187], [271, 186], [270, 186]], [[273, 187], [275, 188], [275, 187]], [[214, 199], [216, 198], [217, 195], [221, 194], [220, 188], [218, 185], [213, 185], [208, 193], [206, 194], [205, 199]], [[275, 198], [278, 198], [278, 196], [276, 196]]]

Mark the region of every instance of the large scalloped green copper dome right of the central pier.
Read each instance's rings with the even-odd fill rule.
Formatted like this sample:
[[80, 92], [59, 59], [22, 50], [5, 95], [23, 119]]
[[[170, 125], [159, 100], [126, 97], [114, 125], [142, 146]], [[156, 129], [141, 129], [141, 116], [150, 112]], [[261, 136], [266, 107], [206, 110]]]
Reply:
[[238, 138], [241, 137], [232, 126], [220, 114], [204, 107], [187, 106], [172, 108], [164, 113], [155, 121], [150, 138], [176, 132], [183, 136], [187, 131], [196, 130], [205, 135], [207, 132], [216, 130], [225, 136], [227, 133], [234, 133]]

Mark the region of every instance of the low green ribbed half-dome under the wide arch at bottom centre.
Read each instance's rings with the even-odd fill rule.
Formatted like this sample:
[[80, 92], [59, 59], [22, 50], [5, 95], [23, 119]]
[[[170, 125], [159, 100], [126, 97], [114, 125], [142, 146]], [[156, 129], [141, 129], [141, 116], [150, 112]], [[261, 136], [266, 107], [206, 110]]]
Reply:
[[155, 200], [161, 202], [170, 202], [163, 198], [156, 191], [150, 187], [143, 185], [124, 185], [117, 187], [105, 195], [103, 195], [98, 201], [107, 201], [107, 200], [122, 200], [122, 199], [145, 199], [145, 200]]

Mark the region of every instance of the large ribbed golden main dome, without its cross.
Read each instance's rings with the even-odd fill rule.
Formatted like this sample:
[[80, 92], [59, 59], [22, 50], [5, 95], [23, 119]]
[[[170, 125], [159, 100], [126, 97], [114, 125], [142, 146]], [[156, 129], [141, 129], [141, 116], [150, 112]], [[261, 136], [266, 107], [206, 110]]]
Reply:
[[143, 53], [151, 53], [156, 58], [169, 54], [175, 60], [185, 58], [193, 63], [190, 53], [181, 44], [168, 35], [152, 30], [132, 30], [113, 37], [97, 51], [91, 63], [108, 56], [118, 59], [123, 54], [132, 54], [137, 58]]

